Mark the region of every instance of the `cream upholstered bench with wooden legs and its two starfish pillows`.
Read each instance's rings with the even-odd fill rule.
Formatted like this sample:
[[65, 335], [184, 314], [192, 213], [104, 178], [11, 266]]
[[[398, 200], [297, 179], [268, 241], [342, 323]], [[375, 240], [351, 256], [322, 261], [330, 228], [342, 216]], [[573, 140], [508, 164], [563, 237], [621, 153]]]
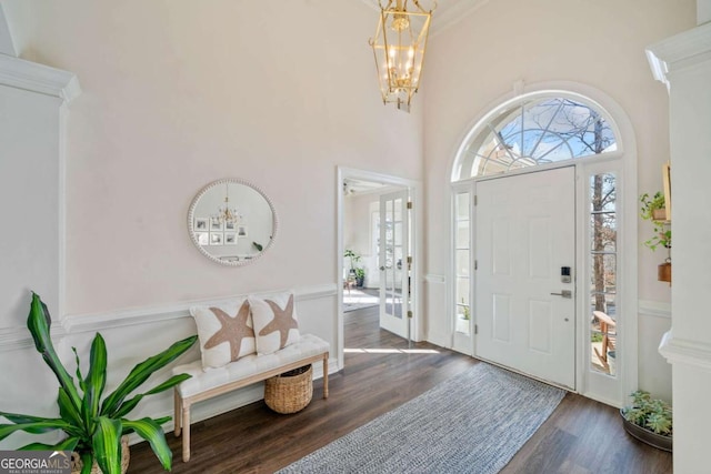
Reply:
[[[272, 307], [271, 319], [266, 310], [268, 306]], [[273, 330], [268, 323], [284, 320], [288, 313], [289, 321], [293, 319], [296, 325], [291, 294], [277, 294], [271, 300], [242, 299], [219, 307], [190, 311], [198, 323], [202, 360], [172, 370], [173, 374], [191, 375], [174, 390], [176, 436], [182, 432], [183, 462], [190, 460], [190, 407], [193, 403], [318, 361], [323, 363], [323, 397], [329, 396], [329, 343], [313, 334], [300, 334], [293, 325], [286, 331], [288, 335], [282, 335], [283, 331]], [[211, 314], [214, 317], [211, 319]], [[244, 322], [242, 331], [234, 327], [239, 326], [239, 320]], [[251, 335], [244, 335], [244, 332]], [[274, 332], [278, 334], [270, 341], [268, 336]]]

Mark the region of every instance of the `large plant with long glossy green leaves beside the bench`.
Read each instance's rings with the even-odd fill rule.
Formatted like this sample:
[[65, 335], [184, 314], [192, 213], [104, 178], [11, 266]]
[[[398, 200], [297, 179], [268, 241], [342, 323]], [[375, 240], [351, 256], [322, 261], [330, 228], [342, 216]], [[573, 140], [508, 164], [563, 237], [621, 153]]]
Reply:
[[[128, 397], [142, 385], [156, 371], [164, 367], [188, 351], [198, 339], [187, 337], [136, 365], [119, 386], [103, 397], [107, 382], [107, 347], [101, 334], [97, 333], [91, 344], [90, 363], [86, 376], [81, 374], [77, 355], [77, 379], [62, 365], [50, 339], [51, 317], [47, 305], [37, 293], [32, 293], [30, 314], [27, 321], [34, 346], [59, 381], [59, 417], [40, 417], [0, 412], [12, 422], [0, 424], [0, 440], [17, 431], [31, 434], [61, 430], [66, 437], [54, 445], [32, 443], [21, 450], [73, 451], [81, 457], [81, 473], [97, 472], [97, 466], [106, 474], [126, 471], [128, 464], [121, 463], [121, 437], [137, 433], [148, 441], [156, 456], [167, 471], [171, 470], [172, 452], [166, 441], [162, 424], [171, 420], [143, 417], [129, 420], [127, 415], [146, 396], [164, 392], [190, 377], [188, 374], [173, 375], [153, 389]], [[74, 354], [77, 350], [73, 349]], [[126, 437], [124, 437], [126, 438]], [[124, 460], [126, 461], [126, 460]], [[92, 471], [92, 467], [94, 471]]]

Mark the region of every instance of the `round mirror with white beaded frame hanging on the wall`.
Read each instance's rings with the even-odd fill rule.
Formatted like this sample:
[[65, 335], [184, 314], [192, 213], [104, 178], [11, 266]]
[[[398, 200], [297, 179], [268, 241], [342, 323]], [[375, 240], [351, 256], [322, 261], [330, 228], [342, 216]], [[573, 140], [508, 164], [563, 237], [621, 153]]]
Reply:
[[269, 198], [238, 179], [204, 186], [188, 212], [190, 238], [198, 250], [223, 265], [246, 265], [274, 241], [277, 212]]

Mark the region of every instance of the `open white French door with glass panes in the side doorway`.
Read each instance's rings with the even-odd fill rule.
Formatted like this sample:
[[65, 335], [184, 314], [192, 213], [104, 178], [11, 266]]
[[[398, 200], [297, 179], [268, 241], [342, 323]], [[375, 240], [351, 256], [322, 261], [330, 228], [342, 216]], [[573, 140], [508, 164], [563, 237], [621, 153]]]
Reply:
[[380, 196], [380, 326], [410, 339], [408, 191]]

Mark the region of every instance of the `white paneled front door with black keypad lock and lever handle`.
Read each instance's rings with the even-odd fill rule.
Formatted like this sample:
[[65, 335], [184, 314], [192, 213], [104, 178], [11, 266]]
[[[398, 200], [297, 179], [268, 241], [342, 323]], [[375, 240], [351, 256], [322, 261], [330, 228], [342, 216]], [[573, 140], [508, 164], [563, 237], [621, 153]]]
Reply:
[[477, 201], [477, 356], [574, 389], [574, 168], [478, 182]]

